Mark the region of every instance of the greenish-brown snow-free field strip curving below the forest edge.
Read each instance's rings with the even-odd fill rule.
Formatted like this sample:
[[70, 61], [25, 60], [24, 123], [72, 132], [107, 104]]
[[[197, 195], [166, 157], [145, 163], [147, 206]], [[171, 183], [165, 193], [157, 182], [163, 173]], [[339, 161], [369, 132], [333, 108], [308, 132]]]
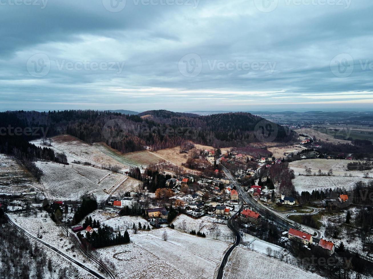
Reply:
[[162, 161], [162, 158], [154, 155], [150, 151], [138, 151], [122, 154], [119, 151], [110, 148], [103, 142], [95, 143], [94, 146], [105, 155], [129, 167], [146, 167], [150, 164], [157, 164]]

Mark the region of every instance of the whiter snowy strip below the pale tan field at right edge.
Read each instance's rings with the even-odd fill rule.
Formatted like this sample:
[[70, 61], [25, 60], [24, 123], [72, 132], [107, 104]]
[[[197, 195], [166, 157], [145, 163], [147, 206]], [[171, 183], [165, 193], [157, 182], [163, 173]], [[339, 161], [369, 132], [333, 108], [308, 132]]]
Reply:
[[356, 182], [368, 182], [369, 180], [372, 179], [354, 176], [304, 176], [295, 173], [292, 183], [298, 192], [308, 191], [311, 193], [315, 189], [334, 189], [335, 187], [344, 187], [346, 190], [349, 190], [351, 187], [354, 187]]

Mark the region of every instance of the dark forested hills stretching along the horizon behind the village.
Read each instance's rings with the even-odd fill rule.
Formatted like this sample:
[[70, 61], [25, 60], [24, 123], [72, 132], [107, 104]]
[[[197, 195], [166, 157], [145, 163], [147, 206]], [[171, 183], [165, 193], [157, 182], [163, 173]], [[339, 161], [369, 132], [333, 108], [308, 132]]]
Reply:
[[[147, 115], [148, 117], [141, 118]], [[149, 117], [150, 115], [150, 117]], [[192, 113], [176, 113], [167, 110], [152, 110], [139, 115], [98, 110], [64, 110], [50, 112], [16, 111], [0, 113], [0, 127], [43, 127], [47, 137], [70, 134], [88, 143], [104, 141], [111, 147], [126, 153], [175, 147], [187, 140], [213, 147], [242, 147], [257, 142], [254, 128], [262, 118], [250, 113], [222, 113], [199, 116]], [[295, 133], [286, 133], [282, 126], [271, 123], [278, 129], [275, 141], [289, 142]], [[26, 149], [26, 141], [42, 137], [38, 135], [0, 137], [0, 148], [12, 153], [14, 147]], [[15, 140], [16, 137], [16, 140]]]

